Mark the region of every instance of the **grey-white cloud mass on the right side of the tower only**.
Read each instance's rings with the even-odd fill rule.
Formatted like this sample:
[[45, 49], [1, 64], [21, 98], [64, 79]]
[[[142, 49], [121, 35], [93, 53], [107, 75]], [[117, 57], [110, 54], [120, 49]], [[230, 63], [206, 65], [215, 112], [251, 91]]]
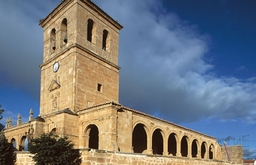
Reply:
[[[120, 103], [175, 122], [202, 117], [255, 122], [256, 84], [216, 75], [204, 60], [211, 51], [209, 36], [195, 25], [167, 13], [158, 1], [96, 3], [125, 26], [119, 42]], [[153, 14], [154, 6], [163, 12]]]

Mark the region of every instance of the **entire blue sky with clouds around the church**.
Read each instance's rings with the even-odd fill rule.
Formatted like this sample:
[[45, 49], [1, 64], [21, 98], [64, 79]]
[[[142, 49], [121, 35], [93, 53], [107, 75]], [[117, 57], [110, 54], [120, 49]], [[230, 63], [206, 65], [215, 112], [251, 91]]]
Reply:
[[[256, 158], [256, 1], [95, 0], [124, 25], [119, 103], [225, 139]], [[43, 28], [60, 0], [0, 1], [0, 103], [5, 124], [39, 115]], [[226, 140], [227, 142], [227, 140]], [[234, 140], [229, 141], [230, 145]]]

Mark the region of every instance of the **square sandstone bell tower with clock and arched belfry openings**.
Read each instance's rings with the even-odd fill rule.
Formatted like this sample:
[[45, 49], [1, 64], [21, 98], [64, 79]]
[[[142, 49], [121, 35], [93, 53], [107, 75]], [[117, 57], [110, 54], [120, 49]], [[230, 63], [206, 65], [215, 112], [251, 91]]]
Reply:
[[46, 18], [40, 116], [118, 102], [119, 30], [91, 0], [63, 0]]

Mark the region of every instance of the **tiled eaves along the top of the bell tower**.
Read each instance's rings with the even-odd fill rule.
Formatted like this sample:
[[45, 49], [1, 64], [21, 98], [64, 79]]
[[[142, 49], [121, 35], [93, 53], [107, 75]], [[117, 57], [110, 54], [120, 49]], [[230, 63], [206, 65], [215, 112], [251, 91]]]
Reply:
[[[71, 2], [72, 0], [62, 0], [60, 4], [58, 4], [58, 6], [56, 6], [52, 12], [50, 12], [50, 14], [48, 14], [47, 17], [45, 17], [44, 19], [41, 19], [39, 21], [39, 25], [43, 26], [44, 22], [46, 20], [48, 20], [49, 17], [51, 17], [52, 15], [54, 15], [58, 9], [60, 9], [62, 6], [66, 5], [68, 2]], [[111, 20], [113, 22], [114, 25], [116, 25], [119, 30], [121, 30], [122, 28], [124, 28], [121, 24], [119, 24], [118, 21], [114, 20], [110, 15], [108, 15], [105, 11], [103, 11], [99, 6], [97, 6], [95, 3], [93, 3], [93, 1], [91, 0], [81, 0], [86, 2], [87, 4], [89, 4], [92, 8], [95, 8], [96, 11], [98, 11], [100, 14], [102, 14], [103, 16], [105, 16], [106, 18], [108, 18], [109, 20]]]

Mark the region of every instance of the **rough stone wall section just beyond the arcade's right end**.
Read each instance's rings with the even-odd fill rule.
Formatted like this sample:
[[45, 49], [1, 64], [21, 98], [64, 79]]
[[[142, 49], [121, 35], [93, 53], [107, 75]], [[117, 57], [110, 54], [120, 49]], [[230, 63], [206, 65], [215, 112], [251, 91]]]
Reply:
[[[243, 146], [242, 145], [230, 145], [227, 146], [227, 149], [230, 153], [230, 158], [232, 162], [242, 163], [243, 161]], [[221, 146], [222, 150], [222, 160], [227, 161], [227, 151], [225, 146]]]

